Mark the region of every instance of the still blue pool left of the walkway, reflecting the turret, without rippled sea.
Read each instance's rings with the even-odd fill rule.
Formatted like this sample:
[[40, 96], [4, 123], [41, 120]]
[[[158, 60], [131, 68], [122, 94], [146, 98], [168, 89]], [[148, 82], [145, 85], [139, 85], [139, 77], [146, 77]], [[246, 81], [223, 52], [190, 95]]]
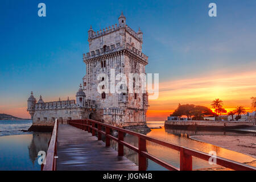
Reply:
[[47, 151], [51, 133], [0, 137], [0, 170], [40, 170], [38, 151]]

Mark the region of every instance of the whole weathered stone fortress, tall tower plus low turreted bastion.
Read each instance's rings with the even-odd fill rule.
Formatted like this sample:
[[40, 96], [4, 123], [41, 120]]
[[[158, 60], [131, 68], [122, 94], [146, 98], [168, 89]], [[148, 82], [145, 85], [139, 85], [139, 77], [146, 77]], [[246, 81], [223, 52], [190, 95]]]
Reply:
[[[98, 80], [98, 75], [105, 73], [110, 78], [110, 73], [114, 70], [114, 75], [123, 73], [130, 84], [135, 82], [135, 78], [129, 80], [129, 73], [145, 73], [145, 66], [148, 64], [148, 57], [142, 53], [142, 31], [139, 29], [135, 32], [128, 27], [123, 14], [118, 18], [118, 22], [118, 26], [115, 24], [97, 32], [90, 27], [89, 52], [83, 55], [86, 74], [82, 78], [83, 88], [80, 87], [76, 94], [76, 101], [43, 102], [40, 98], [36, 102], [31, 94], [28, 99], [28, 111], [33, 123], [53, 122], [55, 118], [92, 118], [120, 127], [146, 124], [147, 93], [126, 92], [129, 90], [125, 85], [125, 92], [122, 90], [121, 93], [100, 93], [97, 90], [101, 79], [104, 79]], [[116, 85], [118, 81], [109, 83]], [[121, 85], [121, 89], [122, 87]]]

